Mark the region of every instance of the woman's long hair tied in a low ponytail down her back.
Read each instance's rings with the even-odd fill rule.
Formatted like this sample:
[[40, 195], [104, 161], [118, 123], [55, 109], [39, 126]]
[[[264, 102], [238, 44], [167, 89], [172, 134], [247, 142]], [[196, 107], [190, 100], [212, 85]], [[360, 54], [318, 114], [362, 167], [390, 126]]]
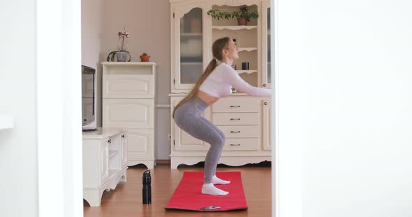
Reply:
[[198, 81], [196, 82], [195, 86], [193, 87], [189, 95], [186, 95], [186, 97], [184, 97], [182, 101], [180, 101], [179, 104], [175, 106], [175, 109], [173, 109], [173, 114], [172, 114], [173, 118], [175, 118], [175, 112], [176, 112], [176, 109], [179, 108], [179, 106], [182, 106], [182, 104], [184, 104], [185, 102], [188, 102], [189, 100], [196, 97], [196, 95], [198, 95], [200, 85], [202, 85], [203, 81], [205, 81], [205, 79], [209, 77], [209, 74], [212, 73], [212, 71], [216, 68], [217, 66], [216, 60], [218, 61], [223, 60], [222, 51], [223, 49], [228, 48], [229, 40], [230, 38], [225, 37], [225, 38], [219, 38], [218, 40], [213, 42], [213, 45], [212, 45], [212, 54], [214, 57], [213, 60], [210, 61], [209, 65], [207, 65], [205, 72], [203, 72], [202, 76], [200, 76], [200, 79], [198, 79]]

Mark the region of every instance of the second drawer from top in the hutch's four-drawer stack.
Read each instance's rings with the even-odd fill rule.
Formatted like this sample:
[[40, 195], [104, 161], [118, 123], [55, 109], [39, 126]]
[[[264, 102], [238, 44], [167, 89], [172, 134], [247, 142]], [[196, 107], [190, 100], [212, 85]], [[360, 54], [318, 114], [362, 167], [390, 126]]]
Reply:
[[259, 113], [213, 113], [212, 120], [216, 125], [258, 125]]

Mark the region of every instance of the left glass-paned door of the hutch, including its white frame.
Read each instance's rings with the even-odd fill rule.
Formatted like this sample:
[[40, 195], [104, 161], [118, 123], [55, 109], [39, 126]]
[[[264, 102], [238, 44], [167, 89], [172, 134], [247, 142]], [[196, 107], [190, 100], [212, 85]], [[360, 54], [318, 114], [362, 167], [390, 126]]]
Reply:
[[205, 63], [204, 6], [179, 6], [172, 11], [172, 93], [187, 93]]

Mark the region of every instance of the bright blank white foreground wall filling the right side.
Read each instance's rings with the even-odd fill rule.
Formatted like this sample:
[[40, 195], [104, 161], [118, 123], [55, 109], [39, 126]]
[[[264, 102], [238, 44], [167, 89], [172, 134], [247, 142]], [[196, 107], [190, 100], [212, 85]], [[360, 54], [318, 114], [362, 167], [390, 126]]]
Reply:
[[281, 214], [412, 216], [412, 2], [277, 3]]

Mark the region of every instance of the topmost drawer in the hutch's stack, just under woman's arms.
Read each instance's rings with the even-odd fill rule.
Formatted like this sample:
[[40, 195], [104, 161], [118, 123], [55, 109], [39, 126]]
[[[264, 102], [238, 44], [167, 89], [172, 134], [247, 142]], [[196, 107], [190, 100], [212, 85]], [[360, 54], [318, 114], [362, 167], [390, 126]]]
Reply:
[[235, 99], [235, 97], [228, 97], [219, 99], [212, 106], [212, 112], [259, 112], [261, 106], [261, 99], [252, 97]]

